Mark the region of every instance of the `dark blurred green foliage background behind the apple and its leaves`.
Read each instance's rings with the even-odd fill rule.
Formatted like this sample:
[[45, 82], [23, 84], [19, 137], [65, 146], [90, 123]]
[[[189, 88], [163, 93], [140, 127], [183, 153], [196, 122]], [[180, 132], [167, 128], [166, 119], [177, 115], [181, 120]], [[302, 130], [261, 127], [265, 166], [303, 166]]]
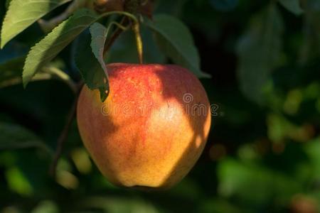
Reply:
[[[74, 94], [54, 78], [11, 84], [0, 89], [0, 212], [320, 212], [320, 1], [161, 0], [155, 13], [188, 25], [212, 76], [202, 82], [218, 107], [195, 168], [165, 192], [114, 187], [74, 121], [53, 179]], [[0, 84], [22, 72], [21, 58], [43, 35], [35, 23], [0, 50]], [[145, 28], [142, 37], [146, 62], [170, 62]], [[77, 42], [50, 65], [74, 80]], [[138, 62], [132, 33], [107, 61]]]

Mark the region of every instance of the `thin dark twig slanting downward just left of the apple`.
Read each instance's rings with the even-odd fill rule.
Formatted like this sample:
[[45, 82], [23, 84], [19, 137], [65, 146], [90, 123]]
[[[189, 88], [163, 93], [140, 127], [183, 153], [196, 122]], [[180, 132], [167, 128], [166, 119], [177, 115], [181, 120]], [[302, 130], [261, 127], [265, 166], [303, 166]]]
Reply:
[[58, 165], [58, 160], [62, 154], [63, 151], [63, 145], [65, 143], [65, 140], [68, 137], [68, 132], [70, 129], [71, 124], [73, 123], [73, 119], [75, 118], [75, 112], [76, 112], [76, 108], [77, 108], [77, 102], [78, 102], [78, 97], [79, 97], [79, 93], [80, 93], [80, 89], [82, 88], [83, 83], [80, 82], [77, 86], [77, 93], [76, 93], [76, 97], [75, 100], [73, 102], [73, 106], [70, 109], [70, 112], [68, 114], [68, 118], [65, 121], [65, 126], [63, 127], [63, 131], [60, 133], [60, 136], [58, 138], [58, 143], [57, 143], [57, 150], [55, 151], [55, 154], [53, 156], [53, 162], [50, 165], [50, 170], [49, 173], [51, 176], [55, 177], [55, 173], [56, 173], [56, 168]]

